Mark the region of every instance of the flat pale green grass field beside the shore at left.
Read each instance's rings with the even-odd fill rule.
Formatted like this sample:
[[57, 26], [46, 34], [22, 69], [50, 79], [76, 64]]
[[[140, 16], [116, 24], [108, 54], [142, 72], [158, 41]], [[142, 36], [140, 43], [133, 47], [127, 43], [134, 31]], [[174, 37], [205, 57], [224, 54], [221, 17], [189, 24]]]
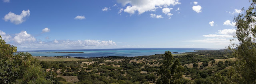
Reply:
[[85, 60], [85, 59], [78, 59], [78, 58], [58, 58], [58, 57], [34, 57], [39, 61], [78, 61], [78, 60]]

